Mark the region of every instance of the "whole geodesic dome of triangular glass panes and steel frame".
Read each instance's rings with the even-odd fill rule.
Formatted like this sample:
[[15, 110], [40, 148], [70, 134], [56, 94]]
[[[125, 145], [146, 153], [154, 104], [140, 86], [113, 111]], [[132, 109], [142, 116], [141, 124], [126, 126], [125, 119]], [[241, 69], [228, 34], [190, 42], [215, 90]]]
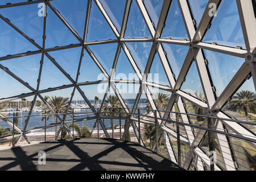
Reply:
[[[153, 110], [255, 122], [255, 9], [251, 0], [1, 1], [0, 107], [22, 104], [22, 98], [30, 102], [23, 126], [15, 127], [24, 138], [38, 103], [55, 113], [47, 96], [68, 97], [69, 106], [82, 100], [93, 112], [95, 96], [100, 110], [109, 96], [117, 96], [126, 113], [134, 113], [146, 100]], [[158, 104], [159, 93], [168, 95], [165, 107]], [[253, 107], [230, 109], [246, 93]], [[135, 119], [131, 124], [136, 134]], [[188, 115], [180, 119], [206, 125]], [[12, 126], [9, 119], [0, 122]], [[65, 123], [63, 127], [68, 130]], [[217, 119], [214, 127], [256, 138], [255, 125]], [[189, 126], [183, 131], [180, 137], [189, 156], [183, 167], [195, 163], [204, 170], [209, 166], [202, 149], [207, 131]], [[171, 139], [175, 133], [161, 135], [177, 163]], [[217, 133], [216, 142], [216, 170], [246, 169], [234, 150], [237, 141]], [[245, 146], [256, 155], [255, 143]]]

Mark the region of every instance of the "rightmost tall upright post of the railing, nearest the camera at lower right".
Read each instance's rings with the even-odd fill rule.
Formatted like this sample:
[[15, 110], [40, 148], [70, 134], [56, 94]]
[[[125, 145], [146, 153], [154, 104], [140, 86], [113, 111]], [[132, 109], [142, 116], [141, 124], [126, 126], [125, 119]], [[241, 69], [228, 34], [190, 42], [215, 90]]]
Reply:
[[[213, 129], [213, 123], [211, 118], [207, 118], [208, 129]], [[214, 171], [214, 134], [208, 131], [208, 142], [209, 142], [209, 158], [210, 158], [210, 171]], [[212, 156], [213, 155], [213, 156]]]

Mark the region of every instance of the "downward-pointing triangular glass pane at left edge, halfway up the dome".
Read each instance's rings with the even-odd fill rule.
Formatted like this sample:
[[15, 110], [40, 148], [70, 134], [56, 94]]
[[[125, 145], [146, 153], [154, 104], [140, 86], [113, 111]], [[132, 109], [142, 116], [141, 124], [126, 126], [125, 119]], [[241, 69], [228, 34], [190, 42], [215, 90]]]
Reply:
[[[18, 57], [11, 60], [1, 61], [4, 67], [7, 67], [9, 71], [13, 72], [16, 76], [27, 82], [36, 89], [38, 85], [38, 75], [40, 69], [41, 54], [31, 55], [26, 57]], [[26, 74], [24, 74], [26, 73]]]

